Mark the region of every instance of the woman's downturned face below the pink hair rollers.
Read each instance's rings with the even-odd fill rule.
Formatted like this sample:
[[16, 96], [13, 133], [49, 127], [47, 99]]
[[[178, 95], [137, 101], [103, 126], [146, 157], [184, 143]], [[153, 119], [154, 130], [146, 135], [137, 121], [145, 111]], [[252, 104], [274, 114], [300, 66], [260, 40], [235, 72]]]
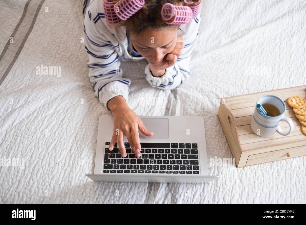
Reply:
[[146, 29], [138, 35], [131, 34], [134, 48], [153, 65], [163, 61], [174, 49], [176, 40], [177, 28]]

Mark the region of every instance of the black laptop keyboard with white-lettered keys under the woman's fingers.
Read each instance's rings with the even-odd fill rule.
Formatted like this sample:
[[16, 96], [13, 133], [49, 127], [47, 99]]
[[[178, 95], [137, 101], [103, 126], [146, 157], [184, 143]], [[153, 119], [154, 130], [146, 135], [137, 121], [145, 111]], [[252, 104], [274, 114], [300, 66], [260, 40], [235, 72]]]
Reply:
[[[109, 145], [106, 142], [105, 145]], [[140, 143], [136, 158], [125, 142], [127, 156], [122, 158], [117, 143], [112, 151], [104, 149], [103, 173], [127, 174], [200, 174], [196, 143]], [[106, 146], [107, 147], [107, 146]]]

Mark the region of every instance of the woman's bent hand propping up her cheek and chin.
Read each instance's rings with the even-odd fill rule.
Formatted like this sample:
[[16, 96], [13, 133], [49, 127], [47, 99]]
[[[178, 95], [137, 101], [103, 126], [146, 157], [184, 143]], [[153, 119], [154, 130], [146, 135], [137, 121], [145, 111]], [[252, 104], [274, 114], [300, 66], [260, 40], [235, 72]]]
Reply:
[[149, 62], [149, 68], [151, 69], [153, 76], [161, 77], [162, 75], [165, 74], [166, 72], [165, 69], [174, 66], [174, 64], [177, 61], [177, 58], [180, 57], [180, 55], [182, 54], [183, 48], [184, 48], [184, 38], [177, 37], [174, 49], [166, 55], [166, 57], [160, 64], [152, 65]]

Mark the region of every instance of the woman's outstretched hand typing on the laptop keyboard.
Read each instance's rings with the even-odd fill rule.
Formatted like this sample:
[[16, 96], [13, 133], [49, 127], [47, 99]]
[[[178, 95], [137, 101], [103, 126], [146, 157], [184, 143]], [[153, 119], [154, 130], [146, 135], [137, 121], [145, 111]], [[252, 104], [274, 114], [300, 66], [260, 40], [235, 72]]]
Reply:
[[124, 135], [127, 137], [136, 158], [140, 154], [140, 139], [138, 129], [146, 136], [152, 136], [153, 132], [147, 130], [140, 118], [128, 107], [122, 96], [116, 96], [107, 104], [114, 114], [114, 132], [109, 149], [112, 151], [116, 141], [122, 157], [126, 156]]

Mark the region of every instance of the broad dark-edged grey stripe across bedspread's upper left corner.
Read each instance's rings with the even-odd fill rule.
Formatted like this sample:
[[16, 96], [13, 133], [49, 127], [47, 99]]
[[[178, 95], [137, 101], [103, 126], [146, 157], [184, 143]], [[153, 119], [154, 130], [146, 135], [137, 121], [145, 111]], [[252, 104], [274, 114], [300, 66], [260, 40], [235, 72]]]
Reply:
[[[2, 84], [6, 76], [8, 75], [9, 71], [12, 69], [19, 54], [21, 53], [24, 47], [24, 44], [28, 39], [28, 36], [32, 32], [37, 15], [44, 2], [45, 0], [41, 0], [39, 5], [37, 6], [35, 1], [28, 0], [28, 2], [25, 4], [24, 12], [20, 18], [20, 21], [16, 25], [11, 35], [11, 37], [13, 37], [14, 42], [10, 43], [8, 40], [8, 42], [6, 43], [6, 46], [4, 47], [4, 50], [2, 51], [1, 57], [0, 57], [0, 63], [1, 63], [0, 66], [3, 66], [2, 71], [6, 69], [5, 72], [2, 74], [2, 77], [0, 78], [0, 85]], [[30, 23], [31, 20], [32, 22]], [[22, 27], [22, 29], [19, 29], [19, 27]], [[8, 53], [7, 53], [7, 50], [9, 50]]]

